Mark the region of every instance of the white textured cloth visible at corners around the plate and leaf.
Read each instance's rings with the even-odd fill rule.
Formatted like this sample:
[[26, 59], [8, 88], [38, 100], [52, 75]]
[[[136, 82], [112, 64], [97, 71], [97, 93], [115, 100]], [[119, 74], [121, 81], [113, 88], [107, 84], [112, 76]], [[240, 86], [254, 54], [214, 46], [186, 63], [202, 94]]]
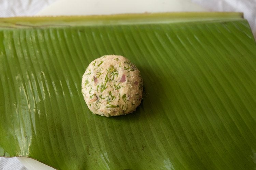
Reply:
[[[0, 17], [33, 16], [56, 0], [0, 0]], [[210, 11], [243, 12], [256, 38], [256, 0], [191, 0]], [[17, 158], [0, 157], [0, 170], [26, 170]]]

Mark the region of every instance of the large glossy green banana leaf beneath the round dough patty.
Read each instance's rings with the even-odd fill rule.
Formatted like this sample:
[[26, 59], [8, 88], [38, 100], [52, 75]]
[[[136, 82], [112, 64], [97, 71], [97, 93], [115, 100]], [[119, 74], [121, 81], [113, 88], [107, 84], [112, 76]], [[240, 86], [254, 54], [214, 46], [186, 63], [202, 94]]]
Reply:
[[[93, 115], [88, 64], [123, 55], [143, 100]], [[56, 169], [255, 169], [256, 43], [241, 13], [0, 19], [0, 156]]]

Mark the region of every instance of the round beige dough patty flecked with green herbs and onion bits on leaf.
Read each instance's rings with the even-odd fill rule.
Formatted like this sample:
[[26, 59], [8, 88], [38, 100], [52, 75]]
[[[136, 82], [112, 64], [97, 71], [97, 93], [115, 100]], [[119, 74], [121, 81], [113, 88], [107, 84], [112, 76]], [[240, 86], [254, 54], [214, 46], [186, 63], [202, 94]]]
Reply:
[[104, 55], [89, 64], [82, 94], [93, 114], [126, 115], [141, 103], [143, 80], [138, 68], [120, 55]]

